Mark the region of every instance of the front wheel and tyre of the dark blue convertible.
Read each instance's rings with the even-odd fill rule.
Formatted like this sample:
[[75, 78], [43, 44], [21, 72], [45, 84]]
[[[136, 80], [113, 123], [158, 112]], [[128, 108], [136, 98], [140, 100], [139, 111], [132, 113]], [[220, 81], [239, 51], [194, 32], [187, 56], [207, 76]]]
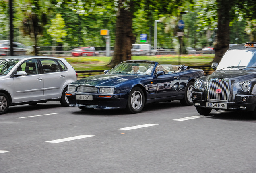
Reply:
[[129, 113], [140, 113], [144, 107], [145, 97], [142, 89], [134, 87], [128, 97], [126, 110]]

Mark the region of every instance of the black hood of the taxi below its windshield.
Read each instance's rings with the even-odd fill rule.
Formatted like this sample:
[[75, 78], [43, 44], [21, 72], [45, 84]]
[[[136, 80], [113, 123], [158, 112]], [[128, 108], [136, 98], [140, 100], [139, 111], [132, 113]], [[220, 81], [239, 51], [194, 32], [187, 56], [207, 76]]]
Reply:
[[213, 72], [208, 80], [211, 78], [227, 78], [231, 82], [241, 82], [255, 78], [256, 72], [253, 70], [218, 70]]

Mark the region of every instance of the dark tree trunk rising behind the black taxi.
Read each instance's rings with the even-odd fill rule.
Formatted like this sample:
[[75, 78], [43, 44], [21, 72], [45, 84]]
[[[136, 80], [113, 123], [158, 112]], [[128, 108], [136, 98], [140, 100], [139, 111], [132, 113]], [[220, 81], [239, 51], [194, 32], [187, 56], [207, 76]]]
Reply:
[[223, 54], [229, 48], [229, 22], [232, 0], [216, 0], [218, 3], [218, 30], [214, 43], [215, 57], [213, 62], [219, 63]]

